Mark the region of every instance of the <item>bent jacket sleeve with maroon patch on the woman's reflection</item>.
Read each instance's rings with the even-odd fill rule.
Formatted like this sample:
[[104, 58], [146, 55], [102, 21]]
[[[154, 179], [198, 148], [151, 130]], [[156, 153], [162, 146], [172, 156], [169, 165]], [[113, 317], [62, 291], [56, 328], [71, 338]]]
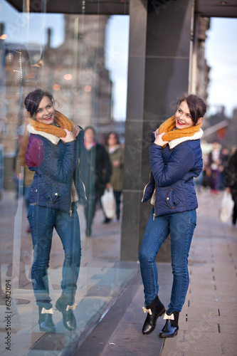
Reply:
[[66, 183], [73, 176], [76, 164], [76, 141], [65, 143], [63, 159], [47, 159], [43, 141], [36, 137], [29, 140], [26, 152], [26, 164], [39, 175], [46, 174], [56, 182]]

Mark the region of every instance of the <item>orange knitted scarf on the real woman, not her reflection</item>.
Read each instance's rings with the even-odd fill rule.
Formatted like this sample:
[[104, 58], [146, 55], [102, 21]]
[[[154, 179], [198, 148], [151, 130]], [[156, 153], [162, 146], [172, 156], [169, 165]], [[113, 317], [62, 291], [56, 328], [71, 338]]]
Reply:
[[162, 125], [160, 125], [159, 134], [165, 132], [164, 136], [162, 136], [163, 141], [172, 141], [180, 137], [193, 136], [196, 132], [200, 131], [201, 123], [199, 125], [187, 127], [186, 129], [173, 130], [175, 127], [175, 116], [169, 117], [168, 120], [164, 121]]

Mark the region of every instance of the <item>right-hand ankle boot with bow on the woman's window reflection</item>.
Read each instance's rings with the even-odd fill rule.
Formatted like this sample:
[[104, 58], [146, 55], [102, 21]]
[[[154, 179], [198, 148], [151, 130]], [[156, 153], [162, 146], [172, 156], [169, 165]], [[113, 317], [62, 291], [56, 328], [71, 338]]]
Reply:
[[63, 314], [63, 325], [70, 331], [75, 330], [77, 326], [75, 315], [73, 314], [73, 309], [75, 309], [75, 307], [76, 304], [70, 305], [70, 303], [68, 303], [68, 298], [63, 293], [56, 301], [56, 309]]

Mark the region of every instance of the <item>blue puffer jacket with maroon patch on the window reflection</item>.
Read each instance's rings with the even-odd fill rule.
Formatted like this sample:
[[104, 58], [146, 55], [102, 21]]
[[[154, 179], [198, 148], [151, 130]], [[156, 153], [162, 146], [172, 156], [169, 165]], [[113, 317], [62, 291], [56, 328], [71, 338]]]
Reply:
[[73, 182], [79, 199], [86, 199], [79, 171], [83, 137], [81, 130], [77, 140], [55, 144], [43, 135], [30, 135], [26, 164], [35, 171], [28, 196], [31, 204], [70, 212]]

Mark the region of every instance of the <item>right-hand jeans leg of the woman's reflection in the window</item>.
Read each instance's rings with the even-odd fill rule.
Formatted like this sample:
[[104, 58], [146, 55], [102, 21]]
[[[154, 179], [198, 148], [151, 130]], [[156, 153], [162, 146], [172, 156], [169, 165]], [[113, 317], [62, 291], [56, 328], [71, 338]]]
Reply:
[[75, 203], [72, 210], [72, 216], [60, 212], [56, 218], [56, 231], [60, 236], [65, 253], [61, 287], [70, 305], [75, 301], [81, 258], [80, 224]]

